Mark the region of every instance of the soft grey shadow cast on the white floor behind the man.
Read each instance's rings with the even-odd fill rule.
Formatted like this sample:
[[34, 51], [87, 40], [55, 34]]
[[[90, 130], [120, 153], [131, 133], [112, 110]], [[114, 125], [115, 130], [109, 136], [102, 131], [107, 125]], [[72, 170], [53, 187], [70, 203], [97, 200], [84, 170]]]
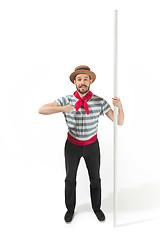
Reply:
[[[106, 198], [102, 199], [102, 209], [105, 213], [113, 213], [113, 193], [110, 192]], [[146, 212], [155, 209], [160, 210], [160, 182], [147, 182], [134, 188], [121, 188], [117, 193], [117, 210], [119, 213]], [[79, 205], [76, 210], [77, 213], [93, 211], [90, 203]], [[134, 224], [134, 222], [127, 224]]]

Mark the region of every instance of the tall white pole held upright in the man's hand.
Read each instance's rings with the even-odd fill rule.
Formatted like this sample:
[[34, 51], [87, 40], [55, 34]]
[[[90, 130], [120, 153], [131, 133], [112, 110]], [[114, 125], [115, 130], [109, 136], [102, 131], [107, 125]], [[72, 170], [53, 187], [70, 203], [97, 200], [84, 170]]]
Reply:
[[[118, 10], [114, 10], [114, 97], [117, 97], [117, 25], [118, 25]], [[114, 157], [114, 209], [113, 209], [113, 219], [114, 227], [117, 226], [117, 114], [118, 107], [114, 106], [114, 147], [113, 147], [113, 157]]]

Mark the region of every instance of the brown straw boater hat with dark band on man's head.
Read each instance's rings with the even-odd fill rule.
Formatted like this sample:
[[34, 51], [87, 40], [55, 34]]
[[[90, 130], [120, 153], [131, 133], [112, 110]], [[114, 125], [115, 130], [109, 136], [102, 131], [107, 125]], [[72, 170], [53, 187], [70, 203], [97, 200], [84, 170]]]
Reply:
[[74, 83], [74, 78], [76, 75], [80, 74], [80, 73], [86, 73], [88, 74], [91, 79], [92, 79], [92, 83], [94, 82], [94, 80], [96, 79], [96, 75], [94, 72], [90, 71], [90, 68], [86, 65], [80, 65], [78, 67], [75, 68], [74, 72], [71, 73], [71, 75], [69, 76], [70, 80], [72, 83]]

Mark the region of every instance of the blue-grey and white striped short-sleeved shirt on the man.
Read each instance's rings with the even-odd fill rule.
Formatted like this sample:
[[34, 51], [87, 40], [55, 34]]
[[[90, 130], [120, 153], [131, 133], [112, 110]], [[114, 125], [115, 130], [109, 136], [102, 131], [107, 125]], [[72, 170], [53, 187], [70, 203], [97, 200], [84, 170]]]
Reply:
[[[70, 94], [56, 99], [56, 102], [59, 106], [71, 104], [75, 107], [75, 103], [78, 100], [79, 99], [73, 94]], [[95, 94], [93, 94], [91, 99], [87, 101], [87, 104], [89, 115], [86, 114], [83, 105], [78, 111], [73, 110], [71, 113], [63, 112], [69, 134], [81, 141], [87, 141], [95, 136], [98, 131], [99, 116], [104, 115], [111, 109], [111, 106], [105, 99]]]

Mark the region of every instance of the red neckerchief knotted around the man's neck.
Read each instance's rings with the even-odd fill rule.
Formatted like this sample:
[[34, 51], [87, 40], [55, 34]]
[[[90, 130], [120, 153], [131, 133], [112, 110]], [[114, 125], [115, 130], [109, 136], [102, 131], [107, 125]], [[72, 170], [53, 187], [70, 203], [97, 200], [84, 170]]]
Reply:
[[89, 91], [83, 98], [81, 98], [81, 97], [79, 96], [78, 91], [75, 91], [75, 92], [73, 93], [73, 95], [74, 95], [76, 98], [79, 99], [79, 100], [76, 102], [76, 104], [75, 104], [75, 109], [76, 109], [76, 111], [78, 111], [78, 109], [83, 105], [83, 106], [84, 106], [84, 109], [85, 109], [85, 111], [86, 111], [86, 113], [87, 113], [87, 115], [88, 115], [88, 114], [89, 114], [89, 108], [88, 108], [88, 104], [87, 104], [86, 101], [88, 101], [89, 99], [91, 99], [93, 93], [92, 93], [91, 91]]

